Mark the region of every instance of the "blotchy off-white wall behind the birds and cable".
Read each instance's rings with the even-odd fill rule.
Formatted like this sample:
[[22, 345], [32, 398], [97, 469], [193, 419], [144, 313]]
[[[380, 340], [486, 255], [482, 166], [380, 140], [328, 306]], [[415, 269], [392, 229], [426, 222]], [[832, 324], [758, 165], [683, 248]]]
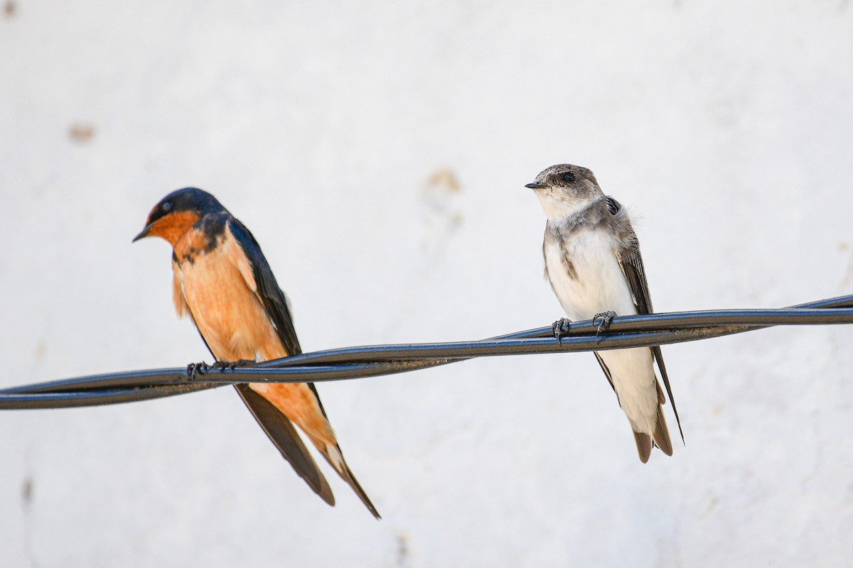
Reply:
[[[846, 1], [0, 4], [0, 386], [210, 360], [131, 245], [189, 185], [306, 351], [559, 318], [524, 184], [561, 162], [640, 217], [659, 311], [853, 293]], [[380, 522], [227, 388], [3, 411], [0, 565], [844, 565], [851, 341], [665, 347], [687, 445], [647, 465], [588, 353], [321, 385]]]

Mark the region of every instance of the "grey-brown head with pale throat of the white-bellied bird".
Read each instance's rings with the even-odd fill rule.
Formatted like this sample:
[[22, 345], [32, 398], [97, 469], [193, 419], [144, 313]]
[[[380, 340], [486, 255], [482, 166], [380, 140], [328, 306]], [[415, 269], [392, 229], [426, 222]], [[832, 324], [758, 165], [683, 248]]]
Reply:
[[536, 191], [545, 215], [554, 220], [572, 215], [603, 195], [595, 175], [589, 169], [572, 164], [543, 169], [536, 180], [525, 187]]

